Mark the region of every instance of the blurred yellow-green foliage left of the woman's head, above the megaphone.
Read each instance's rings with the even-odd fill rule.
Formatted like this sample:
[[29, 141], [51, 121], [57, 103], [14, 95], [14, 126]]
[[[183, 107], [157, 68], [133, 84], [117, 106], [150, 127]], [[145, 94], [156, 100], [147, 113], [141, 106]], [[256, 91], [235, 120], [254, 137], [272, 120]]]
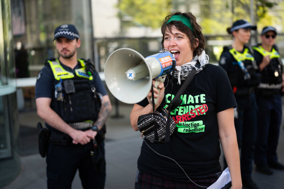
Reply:
[[[119, 17], [124, 26], [160, 28], [163, 18], [172, 9], [172, 0], [120, 0]], [[127, 17], [128, 19], [124, 19]]]

